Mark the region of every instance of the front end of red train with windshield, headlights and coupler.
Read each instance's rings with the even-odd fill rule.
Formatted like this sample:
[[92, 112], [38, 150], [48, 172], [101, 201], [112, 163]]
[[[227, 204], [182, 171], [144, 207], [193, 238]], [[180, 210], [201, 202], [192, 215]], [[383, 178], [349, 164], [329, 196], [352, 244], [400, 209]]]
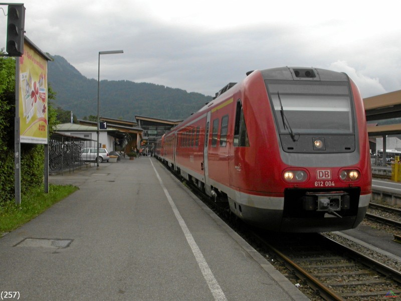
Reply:
[[266, 166], [277, 171], [270, 192], [283, 201], [280, 222], [268, 227], [284, 232], [355, 228], [371, 195], [369, 143], [357, 87], [346, 74], [323, 69], [261, 73], [278, 146]]

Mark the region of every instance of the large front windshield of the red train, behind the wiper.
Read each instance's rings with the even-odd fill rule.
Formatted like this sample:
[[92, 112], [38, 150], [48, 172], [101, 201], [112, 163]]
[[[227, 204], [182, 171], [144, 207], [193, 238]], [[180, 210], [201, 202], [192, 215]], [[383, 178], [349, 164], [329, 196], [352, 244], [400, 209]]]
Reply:
[[346, 82], [267, 81], [281, 133], [352, 133]]

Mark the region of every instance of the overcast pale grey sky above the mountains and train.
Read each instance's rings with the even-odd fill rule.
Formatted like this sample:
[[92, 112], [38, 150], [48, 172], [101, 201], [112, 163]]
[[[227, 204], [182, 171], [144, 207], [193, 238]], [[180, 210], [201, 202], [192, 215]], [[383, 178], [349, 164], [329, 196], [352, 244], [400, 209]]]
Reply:
[[401, 90], [400, 0], [15, 3], [25, 5], [26, 36], [88, 78], [97, 79], [99, 51], [121, 49], [101, 55], [101, 79], [214, 95], [250, 70], [312, 66], [346, 72], [363, 97]]

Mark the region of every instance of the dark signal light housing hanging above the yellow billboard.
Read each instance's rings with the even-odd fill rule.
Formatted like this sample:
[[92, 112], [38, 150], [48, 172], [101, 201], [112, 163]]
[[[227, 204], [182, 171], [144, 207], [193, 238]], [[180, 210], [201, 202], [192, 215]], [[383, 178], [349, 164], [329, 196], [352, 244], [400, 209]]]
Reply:
[[24, 54], [25, 7], [23, 4], [9, 5], [7, 15], [7, 45], [9, 56]]

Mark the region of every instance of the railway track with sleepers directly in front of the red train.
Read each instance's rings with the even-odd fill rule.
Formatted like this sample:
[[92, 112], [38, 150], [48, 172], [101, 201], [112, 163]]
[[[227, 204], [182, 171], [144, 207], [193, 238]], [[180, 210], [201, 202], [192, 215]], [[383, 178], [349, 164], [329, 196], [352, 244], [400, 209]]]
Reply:
[[[401, 272], [320, 234], [255, 237], [326, 300], [361, 300], [401, 293]], [[279, 241], [279, 242], [277, 242]]]

